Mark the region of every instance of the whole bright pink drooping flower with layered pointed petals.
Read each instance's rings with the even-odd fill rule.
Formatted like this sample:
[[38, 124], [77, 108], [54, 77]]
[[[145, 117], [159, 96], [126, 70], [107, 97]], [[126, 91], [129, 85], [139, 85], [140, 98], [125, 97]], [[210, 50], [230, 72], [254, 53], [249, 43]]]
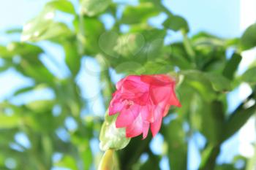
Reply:
[[109, 115], [119, 113], [116, 128], [126, 128], [127, 137], [143, 134], [143, 139], [151, 128], [155, 136], [170, 106], [181, 107], [175, 84], [165, 74], [130, 75], [117, 82], [109, 107]]

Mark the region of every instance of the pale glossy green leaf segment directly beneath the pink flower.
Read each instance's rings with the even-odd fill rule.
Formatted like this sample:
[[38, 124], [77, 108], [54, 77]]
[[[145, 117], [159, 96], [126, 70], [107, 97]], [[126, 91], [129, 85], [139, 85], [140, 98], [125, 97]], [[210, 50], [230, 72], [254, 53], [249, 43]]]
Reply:
[[129, 144], [130, 138], [126, 137], [125, 128], [116, 128], [116, 115], [105, 115], [105, 122], [99, 134], [101, 150], [121, 150]]

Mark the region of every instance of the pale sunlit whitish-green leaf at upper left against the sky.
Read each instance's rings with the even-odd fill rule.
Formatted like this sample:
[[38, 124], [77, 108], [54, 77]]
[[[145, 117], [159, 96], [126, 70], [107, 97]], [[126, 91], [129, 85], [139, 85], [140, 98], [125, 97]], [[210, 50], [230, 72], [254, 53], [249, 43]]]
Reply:
[[53, 20], [55, 9], [45, 7], [37, 16], [23, 26], [21, 41], [37, 42], [44, 39], [53, 39], [56, 37], [67, 37], [71, 31], [64, 23], [57, 23]]

